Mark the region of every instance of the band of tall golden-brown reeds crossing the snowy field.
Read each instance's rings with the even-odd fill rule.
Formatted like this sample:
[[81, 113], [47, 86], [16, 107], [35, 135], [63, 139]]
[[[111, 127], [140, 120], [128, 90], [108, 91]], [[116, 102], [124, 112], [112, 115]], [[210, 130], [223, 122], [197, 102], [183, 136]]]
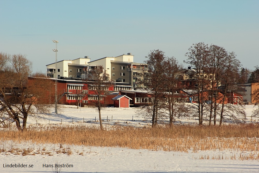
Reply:
[[259, 151], [259, 124], [219, 127], [123, 127], [99, 130], [86, 126], [37, 126], [26, 132], [0, 131], [0, 139], [100, 147], [127, 147], [164, 151]]

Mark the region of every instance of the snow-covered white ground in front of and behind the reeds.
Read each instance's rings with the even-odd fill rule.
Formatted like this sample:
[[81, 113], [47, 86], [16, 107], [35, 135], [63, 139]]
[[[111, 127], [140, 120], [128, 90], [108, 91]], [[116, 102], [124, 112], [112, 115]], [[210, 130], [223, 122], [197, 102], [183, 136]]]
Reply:
[[[249, 121], [252, 110], [252, 105], [246, 106]], [[113, 125], [150, 126], [150, 120], [137, 115], [137, 111], [137, 108], [106, 108], [102, 111], [103, 125], [106, 128]], [[27, 126], [36, 126], [36, 123], [37, 126], [99, 126], [99, 122], [95, 122], [95, 117], [96, 121], [98, 120], [98, 112], [94, 108], [76, 109], [75, 106], [64, 106], [58, 113], [58, 116], [52, 113], [38, 119], [29, 119]], [[196, 124], [197, 121], [190, 117], [190, 120], [184, 118], [177, 123]], [[239, 160], [240, 151], [192, 153], [190, 150], [188, 153], [181, 153], [66, 144], [62, 147], [60, 148], [59, 144], [35, 144], [30, 141], [18, 143], [1, 139], [0, 148], [5, 148], [6, 152], [0, 154], [0, 173], [53, 172], [55, 164], [64, 166], [61, 172], [259, 172], [258, 160]], [[8, 152], [11, 148], [16, 152]], [[23, 156], [24, 150], [27, 150], [28, 154]], [[57, 152], [59, 150], [60, 152]], [[62, 153], [64, 150], [66, 152]], [[29, 155], [33, 153], [37, 154]], [[243, 151], [242, 154], [249, 152]], [[23, 167], [18, 168], [21, 164]]]

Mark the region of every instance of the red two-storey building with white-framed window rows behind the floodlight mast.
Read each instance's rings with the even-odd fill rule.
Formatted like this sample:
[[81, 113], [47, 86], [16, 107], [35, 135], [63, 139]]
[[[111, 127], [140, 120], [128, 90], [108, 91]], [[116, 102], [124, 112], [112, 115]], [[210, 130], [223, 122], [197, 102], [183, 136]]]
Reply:
[[[29, 77], [29, 80], [33, 80], [33, 77]], [[46, 78], [49, 82], [49, 89], [46, 93], [46, 104], [55, 103], [55, 79]], [[106, 99], [106, 93], [114, 92], [118, 90], [131, 90], [131, 85], [124, 82], [111, 82], [111, 85], [105, 87], [103, 90], [103, 95], [101, 101], [106, 104], [106, 102], [111, 102], [112, 98]], [[119, 93], [118, 93], [119, 94]], [[117, 94], [117, 95], [118, 95]], [[74, 78], [62, 78], [57, 79], [57, 101], [58, 104], [76, 104], [78, 101], [84, 103], [85, 105], [94, 105], [97, 100], [95, 94], [95, 82], [86, 82], [83, 80], [78, 80]], [[112, 105], [114, 102], [112, 101]]]

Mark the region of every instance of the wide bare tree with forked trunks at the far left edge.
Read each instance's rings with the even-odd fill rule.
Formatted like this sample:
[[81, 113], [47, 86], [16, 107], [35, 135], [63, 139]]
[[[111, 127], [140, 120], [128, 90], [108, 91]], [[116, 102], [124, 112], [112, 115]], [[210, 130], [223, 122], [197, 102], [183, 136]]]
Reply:
[[[18, 130], [23, 131], [26, 130], [28, 116], [46, 112], [46, 107], [41, 104], [44, 93], [39, 92], [39, 89], [46, 88], [42, 86], [45, 82], [28, 81], [32, 63], [24, 55], [8, 55], [5, 58], [8, 59], [8, 68], [2, 71], [0, 78], [1, 111], [16, 123]], [[20, 120], [23, 121], [22, 126]]]

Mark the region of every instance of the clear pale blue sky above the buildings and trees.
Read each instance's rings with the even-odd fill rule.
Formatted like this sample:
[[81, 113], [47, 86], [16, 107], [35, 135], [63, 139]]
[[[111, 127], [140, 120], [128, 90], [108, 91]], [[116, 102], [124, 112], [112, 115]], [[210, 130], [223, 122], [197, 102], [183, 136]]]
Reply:
[[[183, 64], [193, 43], [234, 51], [243, 67], [259, 65], [259, 1], [0, 0], [0, 52], [26, 54], [33, 71], [89, 56], [131, 52], [142, 63], [160, 49]], [[184, 67], [188, 65], [184, 64]]]

